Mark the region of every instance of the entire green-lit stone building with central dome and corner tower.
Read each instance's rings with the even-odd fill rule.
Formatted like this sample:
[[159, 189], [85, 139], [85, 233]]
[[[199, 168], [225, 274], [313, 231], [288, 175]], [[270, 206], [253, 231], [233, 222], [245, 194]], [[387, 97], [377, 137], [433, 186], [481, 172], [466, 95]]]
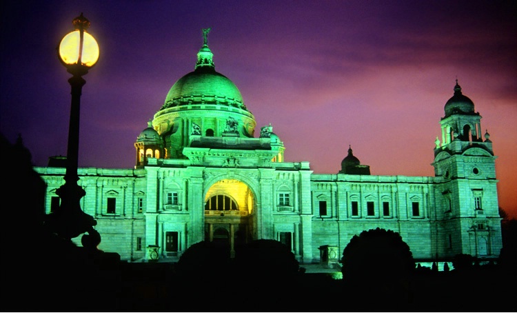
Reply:
[[[79, 169], [81, 208], [97, 220], [99, 249], [128, 261], [174, 262], [203, 240], [233, 249], [275, 239], [301, 264], [336, 265], [352, 236], [383, 228], [401, 234], [418, 263], [450, 262], [460, 253], [498, 257], [496, 156], [465, 96], [447, 101], [435, 176], [371, 175], [352, 148], [336, 174], [317, 174], [307, 161], [284, 161], [272, 125], [255, 137], [239, 89], [215, 71], [208, 32], [194, 71], [172, 85], [137, 137], [135, 167]], [[65, 169], [35, 170], [48, 185], [50, 212]], [[219, 205], [230, 210], [213, 210]]]

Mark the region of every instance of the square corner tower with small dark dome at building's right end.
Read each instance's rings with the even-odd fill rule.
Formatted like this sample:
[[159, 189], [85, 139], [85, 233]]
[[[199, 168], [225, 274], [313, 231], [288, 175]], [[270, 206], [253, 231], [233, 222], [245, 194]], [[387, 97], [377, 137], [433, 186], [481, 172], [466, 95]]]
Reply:
[[[494, 259], [500, 249], [500, 216], [496, 165], [488, 132], [480, 136], [481, 116], [474, 102], [454, 86], [440, 121], [442, 141], [436, 137], [434, 174], [440, 254], [467, 253]], [[441, 235], [440, 235], [441, 234]]]

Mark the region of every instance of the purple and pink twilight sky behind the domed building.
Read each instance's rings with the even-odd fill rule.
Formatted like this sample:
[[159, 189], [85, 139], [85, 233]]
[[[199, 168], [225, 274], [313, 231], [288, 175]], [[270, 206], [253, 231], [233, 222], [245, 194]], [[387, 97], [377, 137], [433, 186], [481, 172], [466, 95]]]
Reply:
[[[55, 48], [83, 12], [101, 47], [84, 77], [79, 166], [133, 168], [134, 141], [208, 46], [285, 161], [336, 174], [352, 145], [374, 175], [434, 176], [454, 93], [494, 144], [517, 218], [517, 1], [11, 1], [1, 4], [0, 132], [34, 165], [65, 155], [70, 74]], [[4, 164], [4, 166], [8, 166]]]

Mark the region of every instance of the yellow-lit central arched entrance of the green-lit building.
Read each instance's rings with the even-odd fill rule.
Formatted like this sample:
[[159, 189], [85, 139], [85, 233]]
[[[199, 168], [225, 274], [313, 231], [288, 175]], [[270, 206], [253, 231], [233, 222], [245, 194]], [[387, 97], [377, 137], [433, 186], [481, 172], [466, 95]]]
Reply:
[[247, 243], [254, 231], [254, 196], [248, 185], [237, 179], [221, 179], [205, 194], [205, 241], [230, 248]]

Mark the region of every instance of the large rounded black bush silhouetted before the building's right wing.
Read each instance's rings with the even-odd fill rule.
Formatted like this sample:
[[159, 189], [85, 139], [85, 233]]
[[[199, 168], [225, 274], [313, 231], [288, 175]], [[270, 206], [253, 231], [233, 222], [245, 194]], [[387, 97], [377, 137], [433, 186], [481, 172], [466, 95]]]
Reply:
[[347, 301], [361, 304], [361, 310], [402, 310], [409, 303], [415, 262], [398, 232], [376, 228], [355, 235], [341, 262]]

